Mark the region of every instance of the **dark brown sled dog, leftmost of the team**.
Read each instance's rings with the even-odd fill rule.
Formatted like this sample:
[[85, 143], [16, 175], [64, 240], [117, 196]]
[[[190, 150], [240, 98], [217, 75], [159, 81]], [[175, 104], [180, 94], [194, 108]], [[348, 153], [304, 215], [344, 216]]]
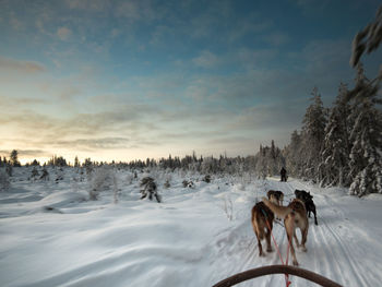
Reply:
[[271, 232], [273, 228], [273, 212], [266, 207], [263, 202], [259, 202], [252, 207], [252, 227], [258, 238], [259, 256], [265, 255], [261, 244], [261, 240], [263, 240], [264, 237], [266, 239], [266, 252], [272, 251]]

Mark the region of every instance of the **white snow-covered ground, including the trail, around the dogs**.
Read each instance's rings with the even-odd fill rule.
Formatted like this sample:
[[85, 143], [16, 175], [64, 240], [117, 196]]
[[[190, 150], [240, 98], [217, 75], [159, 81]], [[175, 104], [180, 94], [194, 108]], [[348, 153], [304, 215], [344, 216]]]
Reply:
[[[114, 188], [88, 201], [89, 183], [28, 181], [31, 168], [15, 169], [12, 188], [0, 193], [0, 286], [212, 286], [239, 272], [280, 264], [277, 253], [258, 256], [251, 207], [270, 189], [286, 200], [295, 189], [311, 191], [319, 225], [310, 218], [308, 252], [300, 266], [343, 286], [382, 285], [382, 196], [358, 199], [342, 189], [320, 189], [291, 179], [253, 180], [172, 174], [156, 177], [163, 203], [140, 200], [139, 181], [117, 172]], [[142, 178], [143, 174], [139, 174]], [[86, 178], [84, 176], [84, 178]], [[200, 177], [201, 179], [202, 177]], [[171, 187], [165, 189], [165, 179]], [[194, 189], [183, 188], [193, 179]], [[275, 224], [284, 256], [287, 240]], [[272, 243], [273, 246], [273, 243]], [[291, 277], [291, 286], [317, 286]], [[239, 286], [284, 286], [283, 275]]]

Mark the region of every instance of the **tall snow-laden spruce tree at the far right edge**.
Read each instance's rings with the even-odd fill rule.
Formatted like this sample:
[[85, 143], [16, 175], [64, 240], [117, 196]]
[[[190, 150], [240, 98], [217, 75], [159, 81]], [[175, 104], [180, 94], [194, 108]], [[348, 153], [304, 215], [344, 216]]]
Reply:
[[381, 103], [378, 96], [381, 79], [369, 81], [365, 76], [361, 63], [357, 65], [356, 86], [348, 93], [351, 105], [350, 127], [350, 194], [362, 196], [368, 193], [382, 193], [382, 116], [375, 105]]

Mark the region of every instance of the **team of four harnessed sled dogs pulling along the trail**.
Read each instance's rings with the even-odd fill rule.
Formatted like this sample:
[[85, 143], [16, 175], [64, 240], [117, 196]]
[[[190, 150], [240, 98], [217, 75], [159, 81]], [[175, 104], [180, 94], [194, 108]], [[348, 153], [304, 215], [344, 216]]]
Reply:
[[[314, 224], [317, 222], [315, 205], [313, 203], [313, 195], [310, 192], [303, 190], [295, 190], [296, 199], [294, 199], [287, 206], [283, 206], [284, 193], [282, 191], [270, 190], [267, 199], [263, 198], [263, 201], [256, 203], [252, 208], [252, 227], [258, 238], [259, 256], [265, 255], [261, 241], [265, 238], [266, 251], [271, 252], [271, 232], [273, 229], [273, 220], [275, 216], [284, 219], [284, 227], [287, 234], [288, 241], [290, 242], [290, 254], [293, 256], [294, 265], [298, 265], [293, 238], [297, 247], [302, 251], [307, 251], [306, 242], [308, 237], [309, 220], [308, 214], [314, 215]], [[296, 229], [301, 231], [301, 242], [299, 243]]]

